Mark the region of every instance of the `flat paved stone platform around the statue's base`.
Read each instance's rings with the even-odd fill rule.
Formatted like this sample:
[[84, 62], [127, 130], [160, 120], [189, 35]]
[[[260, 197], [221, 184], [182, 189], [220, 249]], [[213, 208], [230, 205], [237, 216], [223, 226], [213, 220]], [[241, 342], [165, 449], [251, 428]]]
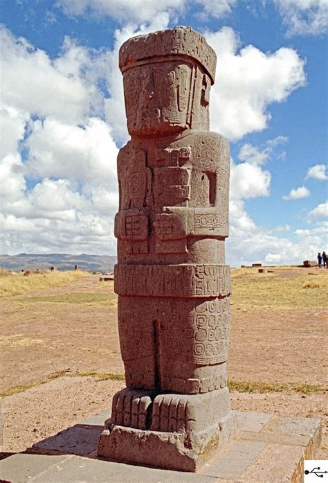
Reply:
[[303, 481], [304, 459], [320, 446], [318, 418], [236, 412], [240, 433], [200, 473], [145, 468], [97, 459], [103, 411], [0, 462], [1, 482], [284, 483]]

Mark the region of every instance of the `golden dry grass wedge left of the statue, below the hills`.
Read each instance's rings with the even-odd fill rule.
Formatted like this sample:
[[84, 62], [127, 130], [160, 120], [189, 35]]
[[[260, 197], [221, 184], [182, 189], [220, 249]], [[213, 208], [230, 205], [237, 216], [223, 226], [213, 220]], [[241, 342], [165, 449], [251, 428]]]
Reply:
[[0, 297], [21, 295], [31, 290], [40, 290], [60, 285], [68, 285], [81, 276], [90, 275], [83, 271], [46, 272], [43, 274], [7, 274], [0, 278]]

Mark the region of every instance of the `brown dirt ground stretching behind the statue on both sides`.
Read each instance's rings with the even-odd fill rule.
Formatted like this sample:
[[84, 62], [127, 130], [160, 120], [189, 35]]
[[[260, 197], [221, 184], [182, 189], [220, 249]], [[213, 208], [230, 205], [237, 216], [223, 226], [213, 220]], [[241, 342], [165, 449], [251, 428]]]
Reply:
[[[262, 282], [255, 276], [249, 279], [246, 272], [235, 273], [237, 288], [232, 302], [228, 362], [230, 380], [325, 385], [327, 311], [322, 304], [316, 304], [315, 286], [307, 291], [299, 290], [302, 297], [295, 293], [291, 304], [280, 303], [277, 292], [284, 279], [298, 281], [304, 274], [300, 270], [275, 269], [274, 276], [279, 280], [272, 288], [267, 276], [262, 279], [263, 286], [267, 285], [270, 290], [266, 289], [259, 297], [260, 302], [254, 301], [251, 295]], [[312, 272], [316, 274], [315, 269]], [[242, 286], [244, 279], [250, 285]], [[0, 310], [3, 314], [2, 391], [12, 389], [15, 393], [20, 390], [19, 386], [35, 384], [3, 399], [3, 451], [24, 450], [110, 406], [111, 396], [124, 383], [87, 375], [124, 372], [113, 282], [86, 276], [69, 286], [4, 297], [0, 300]], [[60, 374], [66, 376], [38, 385]], [[309, 396], [289, 392], [233, 392], [232, 403], [240, 410], [327, 416], [322, 392]]]

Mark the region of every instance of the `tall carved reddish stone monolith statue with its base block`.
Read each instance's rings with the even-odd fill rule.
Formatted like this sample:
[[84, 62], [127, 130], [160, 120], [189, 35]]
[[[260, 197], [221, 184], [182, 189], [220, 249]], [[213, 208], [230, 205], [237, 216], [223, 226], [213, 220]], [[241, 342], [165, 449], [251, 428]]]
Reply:
[[208, 131], [215, 66], [190, 27], [120, 49], [131, 141], [118, 154], [115, 290], [127, 388], [98, 446], [112, 460], [197, 471], [233, 437], [229, 149]]

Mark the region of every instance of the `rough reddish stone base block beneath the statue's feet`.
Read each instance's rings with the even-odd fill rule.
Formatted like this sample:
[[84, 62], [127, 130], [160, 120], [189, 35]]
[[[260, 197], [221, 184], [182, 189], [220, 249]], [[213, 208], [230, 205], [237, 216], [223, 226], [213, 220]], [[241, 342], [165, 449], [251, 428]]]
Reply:
[[191, 436], [186, 432], [138, 430], [115, 425], [102, 432], [98, 456], [116, 462], [196, 472], [237, 432], [237, 417], [233, 412], [211, 428]]

